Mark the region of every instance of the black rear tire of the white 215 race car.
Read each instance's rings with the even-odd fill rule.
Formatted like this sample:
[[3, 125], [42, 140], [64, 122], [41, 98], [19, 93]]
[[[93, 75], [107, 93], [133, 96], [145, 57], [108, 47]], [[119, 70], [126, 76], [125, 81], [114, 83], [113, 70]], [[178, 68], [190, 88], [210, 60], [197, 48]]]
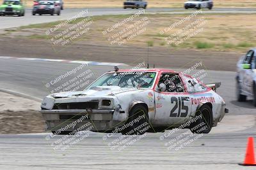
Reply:
[[[211, 107], [208, 104], [201, 106], [196, 112], [196, 116], [200, 115], [202, 115], [202, 118], [199, 118], [190, 125], [190, 131], [194, 134], [207, 134], [211, 131], [213, 124]], [[196, 126], [198, 127], [195, 129]]]

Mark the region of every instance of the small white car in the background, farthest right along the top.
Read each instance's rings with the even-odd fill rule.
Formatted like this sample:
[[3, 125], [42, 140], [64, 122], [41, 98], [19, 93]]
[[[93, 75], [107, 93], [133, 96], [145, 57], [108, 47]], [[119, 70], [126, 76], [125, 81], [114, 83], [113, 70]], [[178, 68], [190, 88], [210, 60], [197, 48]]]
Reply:
[[197, 10], [200, 10], [202, 8], [208, 8], [211, 10], [213, 7], [212, 0], [193, 0], [193, 1], [187, 1], [184, 3], [184, 8], [187, 10], [188, 8], [196, 8]]

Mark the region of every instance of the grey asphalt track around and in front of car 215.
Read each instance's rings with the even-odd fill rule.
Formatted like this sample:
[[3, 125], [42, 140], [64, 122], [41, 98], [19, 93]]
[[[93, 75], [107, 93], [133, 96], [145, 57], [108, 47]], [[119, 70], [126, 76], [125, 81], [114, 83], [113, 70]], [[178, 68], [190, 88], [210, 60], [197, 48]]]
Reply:
[[[79, 64], [0, 59], [0, 88], [42, 98], [49, 94], [45, 82], [77, 66]], [[86, 66], [84, 69], [92, 70], [94, 80], [113, 67]], [[238, 166], [237, 163], [243, 162], [248, 136], [256, 137], [255, 108], [252, 102], [235, 101], [236, 73], [207, 73], [205, 81], [222, 83], [218, 93], [230, 109], [224, 119], [227, 124], [214, 127], [210, 134], [204, 134], [183, 148], [179, 145], [178, 150], [175, 150], [178, 146], [168, 150], [165, 143], [177, 139], [182, 132], [186, 132], [185, 129], [162, 141], [159, 138], [163, 133], [146, 133], [145, 137], [120, 151], [118, 148], [111, 150], [109, 146], [120, 138], [120, 134], [102, 140], [105, 134], [89, 132], [86, 138], [66, 150], [54, 150], [52, 143], [62, 137], [47, 140], [45, 138], [49, 133], [0, 135], [0, 169], [253, 169]], [[231, 117], [234, 122], [228, 120]]]

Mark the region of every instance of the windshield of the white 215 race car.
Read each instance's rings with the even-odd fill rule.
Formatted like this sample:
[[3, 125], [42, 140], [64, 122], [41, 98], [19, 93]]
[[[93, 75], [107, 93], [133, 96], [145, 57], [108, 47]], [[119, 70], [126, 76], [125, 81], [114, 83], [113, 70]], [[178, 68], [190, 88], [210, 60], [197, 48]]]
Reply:
[[156, 78], [155, 72], [120, 72], [107, 73], [101, 76], [97, 81], [92, 83], [87, 89], [96, 86], [115, 85], [122, 88], [152, 88]]

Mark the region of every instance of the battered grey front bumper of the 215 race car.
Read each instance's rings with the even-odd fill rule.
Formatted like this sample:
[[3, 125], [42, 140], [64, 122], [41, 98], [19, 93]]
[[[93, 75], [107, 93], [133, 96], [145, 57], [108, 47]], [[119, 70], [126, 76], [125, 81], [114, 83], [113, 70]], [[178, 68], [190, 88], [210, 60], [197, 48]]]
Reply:
[[[122, 124], [120, 120], [114, 120], [115, 109], [92, 109], [92, 110], [41, 110], [40, 111], [47, 124], [48, 131], [58, 131], [65, 128], [65, 131], [76, 131], [84, 124], [91, 122], [91, 131], [111, 131], [117, 124]], [[79, 120], [79, 121], [77, 121]], [[79, 129], [83, 131], [85, 129]]]

